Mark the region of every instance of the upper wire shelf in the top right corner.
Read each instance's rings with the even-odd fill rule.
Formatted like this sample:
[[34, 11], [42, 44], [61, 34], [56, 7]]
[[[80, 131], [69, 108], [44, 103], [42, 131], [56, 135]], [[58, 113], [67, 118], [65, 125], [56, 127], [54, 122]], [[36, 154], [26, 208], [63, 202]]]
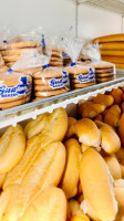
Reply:
[[124, 15], [124, 0], [72, 0], [78, 4], [85, 3], [103, 8]]

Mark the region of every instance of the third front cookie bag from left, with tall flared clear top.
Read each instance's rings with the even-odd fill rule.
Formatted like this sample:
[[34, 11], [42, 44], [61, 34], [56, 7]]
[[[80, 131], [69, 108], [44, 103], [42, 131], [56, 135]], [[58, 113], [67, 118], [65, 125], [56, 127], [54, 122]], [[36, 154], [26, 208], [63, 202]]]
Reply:
[[70, 75], [71, 87], [76, 90], [94, 85], [95, 84], [94, 69], [76, 64], [82, 48], [82, 43], [79, 40], [75, 40], [74, 38], [64, 39], [63, 48], [72, 60], [71, 66], [65, 67], [65, 70], [69, 72]]

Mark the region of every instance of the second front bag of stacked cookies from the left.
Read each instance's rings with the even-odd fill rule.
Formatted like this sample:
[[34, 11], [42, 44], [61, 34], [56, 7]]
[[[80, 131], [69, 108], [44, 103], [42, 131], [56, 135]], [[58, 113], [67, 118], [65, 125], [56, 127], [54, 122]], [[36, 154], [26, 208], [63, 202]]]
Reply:
[[53, 95], [63, 94], [70, 91], [69, 73], [62, 67], [50, 67], [46, 55], [42, 55], [45, 60], [43, 70], [33, 74], [34, 99], [45, 98]]

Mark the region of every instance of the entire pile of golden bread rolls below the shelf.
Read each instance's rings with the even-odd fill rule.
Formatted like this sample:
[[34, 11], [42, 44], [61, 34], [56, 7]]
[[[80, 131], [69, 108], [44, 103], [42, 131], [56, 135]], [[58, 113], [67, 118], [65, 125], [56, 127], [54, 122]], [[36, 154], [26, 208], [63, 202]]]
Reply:
[[[123, 221], [123, 87], [0, 138], [1, 221]], [[121, 109], [122, 108], [122, 109]]]

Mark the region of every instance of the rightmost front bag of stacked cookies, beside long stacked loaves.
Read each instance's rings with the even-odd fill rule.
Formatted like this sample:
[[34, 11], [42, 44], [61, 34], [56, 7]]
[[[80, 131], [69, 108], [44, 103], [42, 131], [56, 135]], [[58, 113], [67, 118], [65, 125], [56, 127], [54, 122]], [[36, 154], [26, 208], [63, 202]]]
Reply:
[[115, 65], [101, 60], [97, 42], [95, 44], [87, 44], [83, 48], [83, 53], [90, 59], [87, 65], [95, 69], [96, 83], [104, 83], [116, 78]]

